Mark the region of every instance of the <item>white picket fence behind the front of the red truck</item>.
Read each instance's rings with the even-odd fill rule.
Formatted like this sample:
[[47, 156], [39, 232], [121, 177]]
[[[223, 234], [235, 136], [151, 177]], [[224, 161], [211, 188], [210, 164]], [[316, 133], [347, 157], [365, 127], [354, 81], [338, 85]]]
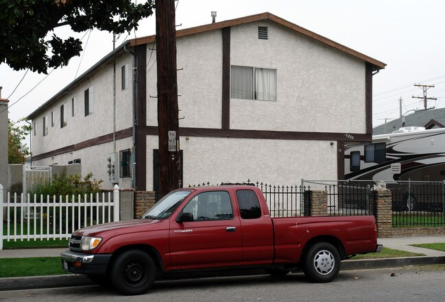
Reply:
[[[119, 221], [119, 186], [113, 192], [80, 196], [10, 195], [0, 184], [0, 250], [3, 240], [69, 238], [81, 227]], [[112, 194], [112, 195], [111, 195]], [[24, 197], [27, 197], [26, 199]], [[27, 201], [27, 202], [21, 202]], [[3, 232], [6, 232], [3, 235]]]

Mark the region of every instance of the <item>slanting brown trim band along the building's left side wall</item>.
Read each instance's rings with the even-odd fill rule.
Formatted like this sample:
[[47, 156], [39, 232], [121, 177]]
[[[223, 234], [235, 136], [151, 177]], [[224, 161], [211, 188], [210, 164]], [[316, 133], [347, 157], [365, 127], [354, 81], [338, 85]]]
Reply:
[[[116, 140], [122, 140], [123, 138], [130, 137], [132, 137], [132, 128], [127, 128], [116, 132]], [[83, 142], [79, 142], [77, 144], [70, 144], [67, 147], [53, 151], [32, 155], [32, 160], [42, 160], [43, 158], [50, 158], [51, 156], [82, 150], [88, 147], [97, 146], [99, 144], [105, 144], [106, 142], [112, 142], [112, 140], [112, 133], [110, 133], [104, 136], [98, 136], [97, 138], [91, 138], [91, 140], [84, 140]]]

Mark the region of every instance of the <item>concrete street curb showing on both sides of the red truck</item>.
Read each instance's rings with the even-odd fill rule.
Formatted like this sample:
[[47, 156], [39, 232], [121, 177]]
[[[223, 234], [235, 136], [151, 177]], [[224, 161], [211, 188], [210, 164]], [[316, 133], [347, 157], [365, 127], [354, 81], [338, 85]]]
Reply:
[[[387, 268], [410, 265], [445, 264], [445, 256], [420, 256], [402, 258], [381, 258], [370, 260], [345, 260], [341, 270], [359, 270], [368, 268]], [[84, 275], [51, 275], [38, 277], [0, 278], [2, 290], [29, 290], [36, 288], [60, 288], [69, 286], [91, 286], [93, 282]]]

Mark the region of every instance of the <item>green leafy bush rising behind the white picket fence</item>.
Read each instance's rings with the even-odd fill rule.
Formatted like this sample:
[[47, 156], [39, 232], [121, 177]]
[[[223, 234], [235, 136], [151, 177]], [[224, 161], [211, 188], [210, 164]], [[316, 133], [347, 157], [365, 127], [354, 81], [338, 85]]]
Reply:
[[36, 194], [40, 196], [60, 196], [63, 197], [69, 195], [77, 196], [80, 194], [81, 197], [84, 194], [96, 194], [101, 191], [100, 184], [102, 180], [97, 180], [93, 178], [93, 173], [88, 173], [83, 179], [80, 175], [67, 175], [67, 173], [62, 173], [61, 175], [53, 175], [52, 181], [37, 181], [32, 184], [28, 189], [27, 193]]

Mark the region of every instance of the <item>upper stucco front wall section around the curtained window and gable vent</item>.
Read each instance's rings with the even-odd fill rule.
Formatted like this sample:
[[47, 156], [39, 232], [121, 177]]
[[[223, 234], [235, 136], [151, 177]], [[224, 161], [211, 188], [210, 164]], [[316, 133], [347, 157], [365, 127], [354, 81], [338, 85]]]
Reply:
[[230, 128], [365, 133], [365, 62], [270, 21], [232, 27], [230, 45], [232, 65], [276, 68], [278, 83], [277, 101], [232, 99]]

